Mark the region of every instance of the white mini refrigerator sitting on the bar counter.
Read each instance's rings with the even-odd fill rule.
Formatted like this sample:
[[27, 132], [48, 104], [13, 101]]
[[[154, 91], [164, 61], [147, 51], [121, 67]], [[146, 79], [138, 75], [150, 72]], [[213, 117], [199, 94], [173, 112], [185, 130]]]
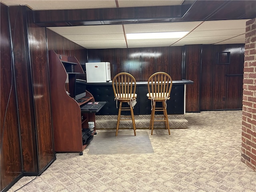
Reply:
[[110, 62], [85, 63], [87, 83], [102, 83], [111, 80]]

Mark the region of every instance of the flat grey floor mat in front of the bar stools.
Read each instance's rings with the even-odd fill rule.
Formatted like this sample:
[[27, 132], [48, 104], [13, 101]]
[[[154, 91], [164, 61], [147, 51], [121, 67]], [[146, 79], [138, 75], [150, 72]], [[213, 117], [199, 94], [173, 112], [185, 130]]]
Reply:
[[148, 132], [133, 130], [101, 131], [88, 145], [88, 155], [145, 154], [154, 153]]

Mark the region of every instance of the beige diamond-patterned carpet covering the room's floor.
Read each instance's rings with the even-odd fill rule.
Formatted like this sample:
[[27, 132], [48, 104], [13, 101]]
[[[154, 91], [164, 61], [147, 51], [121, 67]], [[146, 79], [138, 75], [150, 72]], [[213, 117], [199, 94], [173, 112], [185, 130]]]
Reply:
[[[152, 154], [60, 153], [18, 192], [255, 192], [256, 172], [241, 162], [242, 111], [185, 116], [189, 127], [171, 135], [146, 130]], [[21, 178], [9, 191], [33, 178]]]

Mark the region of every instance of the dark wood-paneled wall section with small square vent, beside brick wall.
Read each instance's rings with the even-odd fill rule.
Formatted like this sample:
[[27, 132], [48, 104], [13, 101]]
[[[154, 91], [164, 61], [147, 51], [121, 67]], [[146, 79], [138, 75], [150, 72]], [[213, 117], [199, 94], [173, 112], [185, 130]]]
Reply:
[[243, 66], [244, 44], [202, 47], [200, 110], [242, 109]]

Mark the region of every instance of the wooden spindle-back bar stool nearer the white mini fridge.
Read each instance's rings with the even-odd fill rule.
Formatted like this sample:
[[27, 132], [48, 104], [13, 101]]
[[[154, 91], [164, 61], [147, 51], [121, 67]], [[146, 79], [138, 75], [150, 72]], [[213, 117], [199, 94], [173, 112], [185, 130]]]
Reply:
[[[136, 136], [136, 126], [135, 126], [134, 113], [133, 113], [134, 102], [136, 102], [136, 97], [137, 97], [137, 94], [135, 93], [136, 80], [131, 74], [122, 72], [114, 76], [112, 81], [112, 87], [114, 90], [114, 96], [116, 100], [116, 108], [117, 108], [118, 102], [120, 102], [119, 109], [118, 109], [117, 125], [116, 125], [116, 136], [118, 134], [120, 120], [132, 120], [134, 136]], [[129, 107], [122, 106], [124, 102], [128, 102]], [[120, 118], [121, 111], [130, 111], [130, 114], [131, 114], [130, 118], [128, 119]], [[127, 116], [124, 116], [124, 117], [127, 117]]]

